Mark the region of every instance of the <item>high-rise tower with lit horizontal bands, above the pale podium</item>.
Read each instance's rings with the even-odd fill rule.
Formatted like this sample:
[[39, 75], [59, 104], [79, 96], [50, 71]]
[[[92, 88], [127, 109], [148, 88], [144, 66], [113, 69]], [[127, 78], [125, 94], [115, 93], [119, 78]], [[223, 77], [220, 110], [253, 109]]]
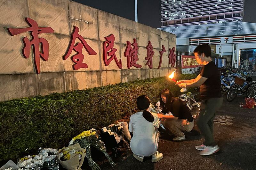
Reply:
[[243, 21], [244, 0], [161, 0], [162, 27]]

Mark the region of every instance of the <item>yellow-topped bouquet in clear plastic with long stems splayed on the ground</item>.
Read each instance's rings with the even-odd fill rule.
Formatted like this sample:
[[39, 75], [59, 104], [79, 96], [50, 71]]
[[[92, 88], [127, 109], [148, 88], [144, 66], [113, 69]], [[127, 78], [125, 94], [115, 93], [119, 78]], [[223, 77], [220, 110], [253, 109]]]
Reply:
[[95, 129], [83, 131], [76, 137], [73, 137], [72, 140], [69, 142], [69, 145], [71, 145], [71, 144], [80, 144], [80, 146], [86, 150], [85, 157], [88, 160], [89, 166], [93, 170], [99, 170], [100, 167], [98, 166], [97, 163], [95, 163], [92, 160], [91, 146], [98, 149], [100, 152], [104, 153], [105, 156], [107, 157], [110, 165], [115, 166], [115, 163], [113, 162], [113, 160], [110, 158], [110, 156], [108, 155], [108, 153], [106, 151], [105, 144], [101, 140], [99, 140], [98, 137], [96, 136]]

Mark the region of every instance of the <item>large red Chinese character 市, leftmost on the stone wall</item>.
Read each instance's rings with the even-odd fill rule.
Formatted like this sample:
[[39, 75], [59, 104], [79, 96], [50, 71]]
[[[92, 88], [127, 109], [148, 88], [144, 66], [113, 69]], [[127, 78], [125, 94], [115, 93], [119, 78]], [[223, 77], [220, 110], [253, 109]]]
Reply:
[[[22, 48], [22, 54], [24, 58], [29, 57], [31, 45], [33, 47], [33, 57], [35, 63], [36, 74], [40, 74], [40, 57], [47, 61], [49, 57], [49, 43], [44, 38], [39, 38], [38, 34], [40, 33], [54, 33], [51, 27], [38, 27], [36, 21], [30, 18], [25, 18], [26, 22], [30, 27], [27, 28], [8, 28], [8, 32], [11, 36], [18, 35], [20, 33], [25, 33], [30, 31], [32, 36], [31, 41], [28, 40], [28, 37], [22, 38], [24, 47]], [[41, 51], [40, 47], [41, 45]]]

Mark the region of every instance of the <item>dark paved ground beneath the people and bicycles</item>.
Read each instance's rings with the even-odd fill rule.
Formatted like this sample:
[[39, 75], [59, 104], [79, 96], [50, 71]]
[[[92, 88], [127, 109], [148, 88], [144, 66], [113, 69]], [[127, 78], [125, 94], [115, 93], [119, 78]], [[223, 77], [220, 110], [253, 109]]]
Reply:
[[239, 107], [245, 103], [244, 97], [228, 102], [223, 95], [223, 104], [214, 121], [214, 137], [220, 151], [213, 155], [198, 155], [195, 146], [201, 145], [204, 139], [195, 123], [191, 132], [185, 132], [186, 141], [172, 142], [173, 136], [161, 134], [158, 151], [164, 158], [156, 163], [151, 162], [151, 157], [141, 163], [129, 152], [115, 160], [116, 166], [106, 162], [101, 167], [111, 170], [256, 169], [256, 108]]

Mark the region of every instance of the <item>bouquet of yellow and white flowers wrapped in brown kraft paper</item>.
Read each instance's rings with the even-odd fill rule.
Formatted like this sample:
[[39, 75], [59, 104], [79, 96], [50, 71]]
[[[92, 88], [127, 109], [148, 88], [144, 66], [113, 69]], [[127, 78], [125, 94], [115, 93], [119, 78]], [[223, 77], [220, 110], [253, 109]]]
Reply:
[[68, 170], [81, 170], [85, 152], [85, 149], [81, 148], [78, 143], [60, 149], [58, 154], [60, 165]]

